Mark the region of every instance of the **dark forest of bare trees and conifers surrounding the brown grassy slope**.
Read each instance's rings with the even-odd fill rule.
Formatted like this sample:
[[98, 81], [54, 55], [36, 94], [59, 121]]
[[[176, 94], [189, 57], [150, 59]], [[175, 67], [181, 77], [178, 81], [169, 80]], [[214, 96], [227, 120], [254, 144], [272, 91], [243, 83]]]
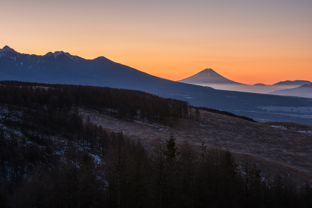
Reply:
[[200, 117], [142, 91], [1, 81], [0, 207], [312, 207], [310, 183], [262, 175], [248, 154], [239, 166], [217, 141], [146, 143], [95, 125], [82, 107], [147, 125]]

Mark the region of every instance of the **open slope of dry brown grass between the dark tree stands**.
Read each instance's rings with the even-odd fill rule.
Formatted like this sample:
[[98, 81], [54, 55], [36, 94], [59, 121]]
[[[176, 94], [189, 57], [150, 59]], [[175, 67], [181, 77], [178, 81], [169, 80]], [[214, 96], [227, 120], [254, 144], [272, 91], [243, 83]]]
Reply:
[[89, 114], [94, 123], [102, 125], [106, 130], [123, 130], [126, 137], [141, 139], [145, 144], [157, 137], [167, 139], [172, 132], [178, 143], [187, 138], [198, 145], [205, 142], [208, 146], [213, 146], [217, 142], [220, 148], [232, 151], [239, 165], [248, 154], [252, 161], [260, 165], [264, 176], [270, 177], [280, 172], [289, 173], [299, 182], [312, 180], [312, 135], [270, 126], [277, 125], [276, 123], [254, 123], [200, 111], [198, 122], [180, 119], [179, 125], [172, 128], [156, 128], [118, 120], [86, 109], [80, 111], [85, 115]]

